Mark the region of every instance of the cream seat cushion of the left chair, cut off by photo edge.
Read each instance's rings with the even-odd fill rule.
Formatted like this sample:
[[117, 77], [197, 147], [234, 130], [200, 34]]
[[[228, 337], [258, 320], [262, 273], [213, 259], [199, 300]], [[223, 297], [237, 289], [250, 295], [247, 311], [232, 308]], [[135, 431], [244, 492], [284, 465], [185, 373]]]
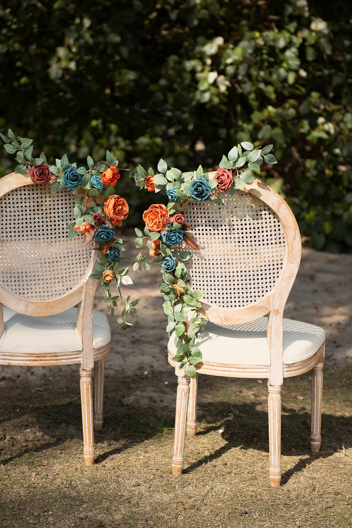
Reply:
[[[82, 350], [76, 328], [77, 308], [49, 317], [30, 317], [4, 307], [5, 331], [0, 338], [0, 353], [16, 352], [74, 352]], [[99, 348], [111, 339], [108, 318], [93, 312], [93, 347]]]

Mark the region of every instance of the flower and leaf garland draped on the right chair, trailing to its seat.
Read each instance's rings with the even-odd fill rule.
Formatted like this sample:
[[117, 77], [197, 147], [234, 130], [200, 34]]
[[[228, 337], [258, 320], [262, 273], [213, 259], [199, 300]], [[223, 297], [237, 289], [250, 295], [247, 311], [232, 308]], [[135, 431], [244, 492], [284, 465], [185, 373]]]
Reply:
[[259, 171], [263, 161], [267, 164], [277, 163], [275, 157], [269, 154], [272, 147], [254, 148], [252, 143], [242, 142], [233, 147], [227, 157], [222, 157], [214, 177], [204, 173], [201, 165], [194, 172], [183, 173], [175, 167], [168, 169], [163, 159], [158, 163], [157, 174], [151, 168], [146, 172], [140, 165], [130, 173], [140, 189], [160, 192], [169, 199], [167, 207], [154, 204], [143, 214], [146, 227], [144, 234], [136, 229], [136, 247], [142, 249], [137, 254], [134, 270], [141, 272], [142, 268], [149, 269], [143, 254], [145, 248], [149, 249], [150, 256], [155, 257], [152, 262], [160, 262], [164, 278], [160, 291], [164, 295], [163, 307], [168, 316], [166, 331], [169, 336], [175, 333], [175, 345], [178, 345], [173, 360], [179, 363], [179, 370], [186, 369], [190, 378], [196, 375], [194, 365], [202, 360], [202, 353], [194, 344], [196, 333], [204, 328], [206, 319], [202, 317], [200, 302], [204, 294], [193, 291], [188, 285], [184, 262], [191, 258], [191, 252], [177, 248], [184, 241], [188, 246], [199, 249], [192, 240], [192, 227], [185, 223], [183, 213], [189, 211], [188, 203], [212, 200], [213, 203], [222, 204], [223, 193], [234, 196], [235, 189], [253, 182], [252, 173], [246, 172], [244, 167]]

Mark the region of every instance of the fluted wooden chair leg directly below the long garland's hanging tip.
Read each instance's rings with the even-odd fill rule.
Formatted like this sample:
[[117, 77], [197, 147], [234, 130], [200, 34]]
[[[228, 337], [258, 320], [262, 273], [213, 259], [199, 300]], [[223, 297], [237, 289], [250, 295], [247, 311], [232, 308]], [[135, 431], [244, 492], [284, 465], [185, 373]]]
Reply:
[[185, 445], [186, 417], [190, 381], [191, 379], [188, 378], [188, 376], [178, 376], [174, 456], [171, 463], [173, 475], [175, 477], [178, 477], [183, 470], [183, 451]]

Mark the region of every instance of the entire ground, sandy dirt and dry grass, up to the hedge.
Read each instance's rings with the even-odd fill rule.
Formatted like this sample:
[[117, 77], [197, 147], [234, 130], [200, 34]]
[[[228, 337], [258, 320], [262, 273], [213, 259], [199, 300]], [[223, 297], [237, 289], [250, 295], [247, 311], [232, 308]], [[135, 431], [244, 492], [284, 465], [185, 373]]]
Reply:
[[[126, 238], [134, 238], [127, 233]], [[199, 379], [199, 432], [170, 469], [176, 377], [167, 364], [159, 266], [128, 287], [132, 331], [111, 323], [98, 459], [82, 459], [75, 366], [5, 367], [0, 527], [352, 527], [352, 256], [303, 248], [285, 316], [327, 333], [322, 448], [309, 450], [310, 373], [282, 390], [282, 486], [268, 483], [267, 388]], [[127, 288], [127, 287], [126, 287]], [[97, 292], [96, 309], [104, 310]]]

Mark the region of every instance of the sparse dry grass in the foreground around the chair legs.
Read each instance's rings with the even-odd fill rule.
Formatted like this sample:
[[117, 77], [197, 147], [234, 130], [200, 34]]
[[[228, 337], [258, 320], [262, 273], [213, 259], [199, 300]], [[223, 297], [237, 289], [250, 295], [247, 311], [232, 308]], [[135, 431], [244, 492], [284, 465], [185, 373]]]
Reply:
[[201, 429], [186, 440], [186, 469], [174, 478], [174, 374], [108, 376], [98, 460], [86, 468], [78, 372], [66, 369], [54, 389], [50, 380], [18, 379], [1, 390], [2, 528], [352, 526], [351, 371], [325, 375], [317, 455], [309, 451], [309, 374], [286, 380], [283, 485], [271, 489], [264, 382], [201, 378]]

